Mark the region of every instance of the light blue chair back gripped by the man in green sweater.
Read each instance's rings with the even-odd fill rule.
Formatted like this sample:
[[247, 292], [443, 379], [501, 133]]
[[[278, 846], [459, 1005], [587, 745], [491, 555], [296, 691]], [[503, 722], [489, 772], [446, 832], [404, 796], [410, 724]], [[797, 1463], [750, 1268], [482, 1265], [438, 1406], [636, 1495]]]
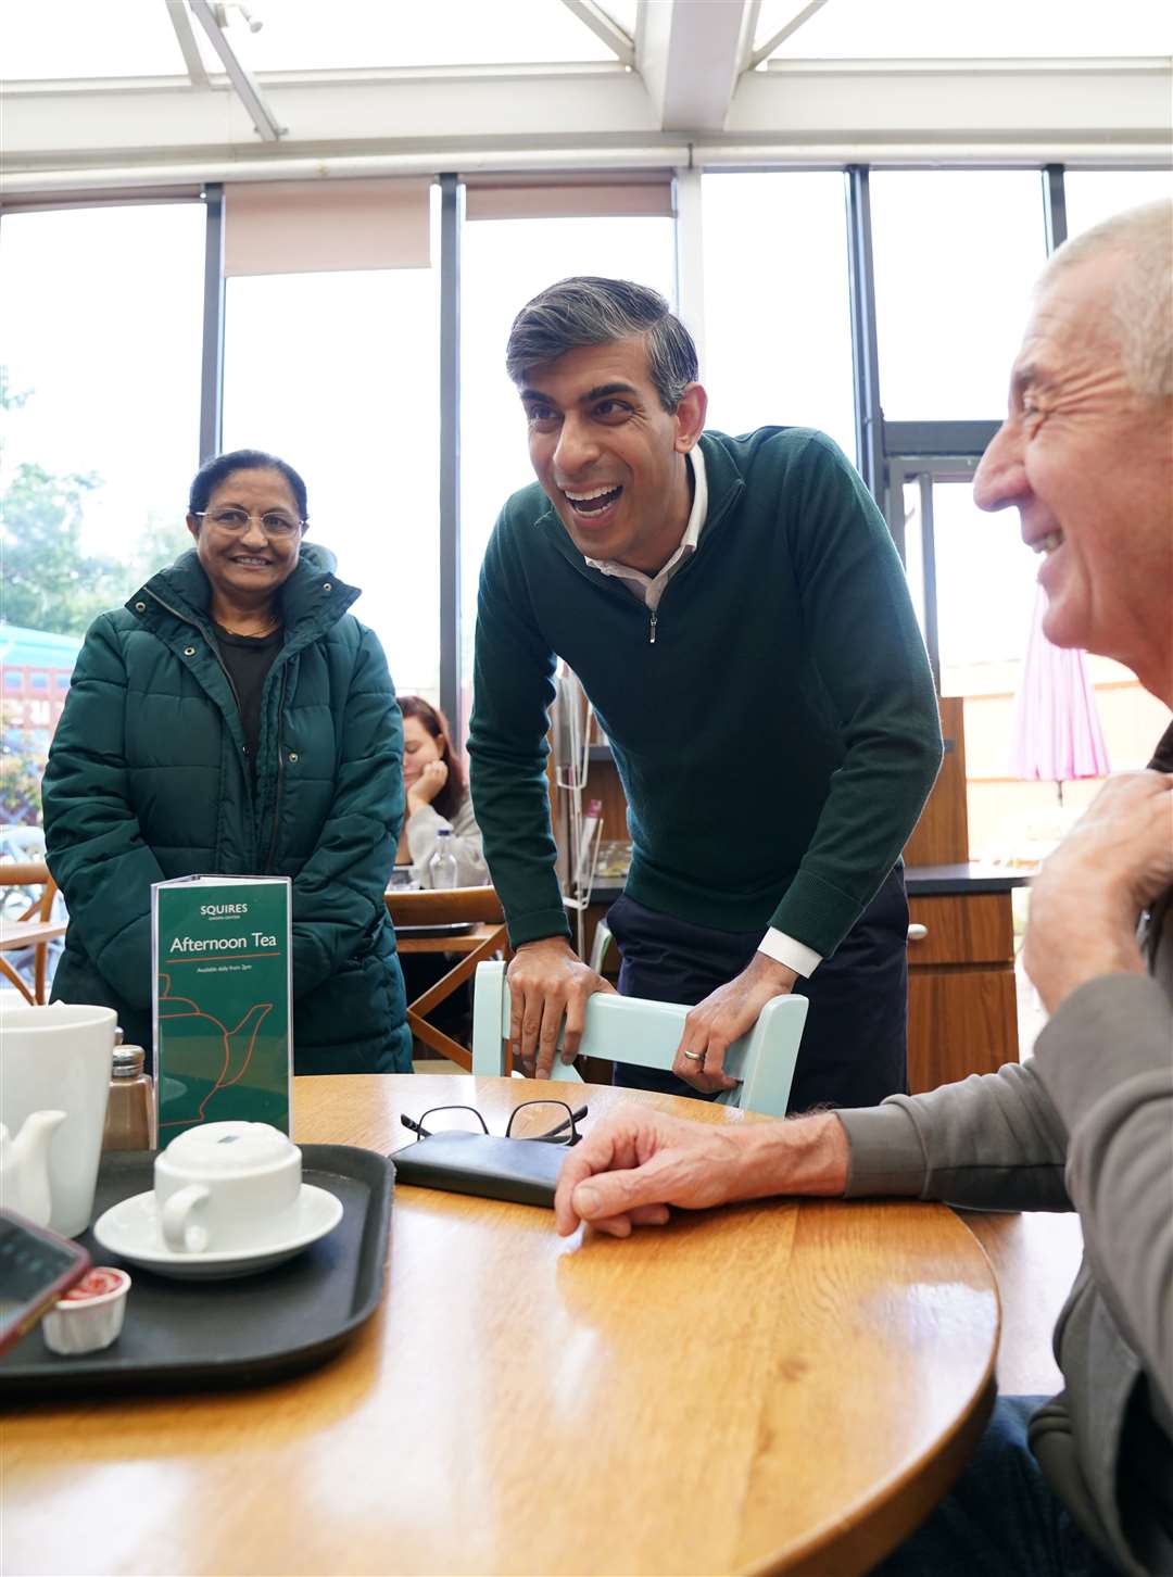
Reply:
[[[672, 1068], [689, 1009], [596, 992], [586, 1003], [580, 1057], [607, 1057], [639, 1068]], [[725, 1105], [785, 1117], [798, 1046], [807, 1016], [806, 997], [776, 997], [758, 1022], [725, 1052], [725, 1072], [739, 1080], [717, 1096]], [[473, 1072], [503, 1074], [509, 1039], [509, 990], [505, 964], [478, 964], [473, 987]], [[553, 1077], [582, 1083], [574, 1064], [555, 1063]]]

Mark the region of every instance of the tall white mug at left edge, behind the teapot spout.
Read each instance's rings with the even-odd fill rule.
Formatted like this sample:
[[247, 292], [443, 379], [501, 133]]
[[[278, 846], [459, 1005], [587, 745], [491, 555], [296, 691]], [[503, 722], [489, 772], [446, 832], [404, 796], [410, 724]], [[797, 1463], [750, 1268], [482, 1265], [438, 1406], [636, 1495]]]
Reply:
[[114, 1008], [0, 1003], [0, 1123], [16, 1146], [33, 1112], [65, 1112], [49, 1139], [49, 1225], [76, 1238], [90, 1225], [110, 1093]]

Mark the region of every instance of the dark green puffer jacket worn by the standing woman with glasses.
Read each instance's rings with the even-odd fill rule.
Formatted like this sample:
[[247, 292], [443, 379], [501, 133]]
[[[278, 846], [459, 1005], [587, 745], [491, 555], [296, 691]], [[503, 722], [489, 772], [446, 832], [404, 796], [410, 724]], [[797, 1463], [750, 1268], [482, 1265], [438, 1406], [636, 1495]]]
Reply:
[[85, 637], [44, 774], [49, 867], [69, 907], [54, 998], [117, 1008], [128, 1041], [151, 1044], [151, 882], [276, 874], [293, 878], [296, 1071], [411, 1068], [383, 904], [402, 722], [378, 640], [347, 613], [358, 591], [333, 569], [306, 544], [282, 587], [255, 784], [194, 552]]

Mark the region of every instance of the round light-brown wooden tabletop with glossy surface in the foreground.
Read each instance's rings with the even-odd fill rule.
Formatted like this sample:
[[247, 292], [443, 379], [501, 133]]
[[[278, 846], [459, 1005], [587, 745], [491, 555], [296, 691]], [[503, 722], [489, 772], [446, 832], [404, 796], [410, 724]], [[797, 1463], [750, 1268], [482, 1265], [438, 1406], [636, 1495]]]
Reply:
[[[296, 1137], [388, 1151], [399, 1112], [530, 1080], [300, 1079]], [[702, 1121], [754, 1117], [574, 1087]], [[9, 1411], [8, 1572], [861, 1572], [963, 1467], [998, 1295], [943, 1206], [773, 1202], [627, 1241], [402, 1187], [385, 1303], [255, 1391]]]

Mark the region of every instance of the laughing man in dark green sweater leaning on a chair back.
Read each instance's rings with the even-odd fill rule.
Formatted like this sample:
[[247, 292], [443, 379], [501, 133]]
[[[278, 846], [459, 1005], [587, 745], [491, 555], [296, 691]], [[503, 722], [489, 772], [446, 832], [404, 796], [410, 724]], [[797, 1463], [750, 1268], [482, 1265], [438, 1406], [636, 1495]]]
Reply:
[[538, 483], [486, 552], [468, 751], [516, 948], [514, 1053], [549, 1077], [563, 1019], [569, 1058], [586, 998], [610, 989], [571, 949], [553, 867], [563, 658], [627, 796], [620, 990], [695, 1005], [676, 1077], [618, 1082], [727, 1088], [727, 1047], [799, 990], [795, 1110], [903, 1090], [900, 850], [941, 741], [883, 517], [823, 434], [705, 434], [695, 347], [653, 290], [561, 281], [519, 314], [508, 367]]

